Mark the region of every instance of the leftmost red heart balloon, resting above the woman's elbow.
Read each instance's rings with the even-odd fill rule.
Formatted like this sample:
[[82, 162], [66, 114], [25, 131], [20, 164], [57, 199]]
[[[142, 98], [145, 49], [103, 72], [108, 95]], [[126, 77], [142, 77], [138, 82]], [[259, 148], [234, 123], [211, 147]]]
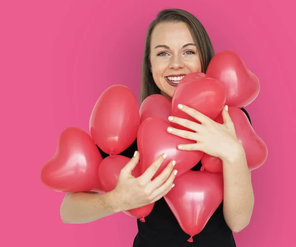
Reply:
[[59, 192], [103, 191], [98, 170], [103, 160], [91, 137], [78, 127], [65, 129], [56, 153], [41, 169], [41, 181]]

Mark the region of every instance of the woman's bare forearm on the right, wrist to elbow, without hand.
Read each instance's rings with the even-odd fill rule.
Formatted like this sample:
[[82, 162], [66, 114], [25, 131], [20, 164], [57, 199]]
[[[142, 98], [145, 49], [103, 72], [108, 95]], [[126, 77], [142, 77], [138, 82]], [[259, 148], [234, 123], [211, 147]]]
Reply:
[[223, 162], [224, 201], [223, 214], [225, 221], [233, 232], [239, 232], [250, 222], [254, 208], [254, 192], [251, 172], [247, 166], [243, 147], [234, 148], [231, 157]]

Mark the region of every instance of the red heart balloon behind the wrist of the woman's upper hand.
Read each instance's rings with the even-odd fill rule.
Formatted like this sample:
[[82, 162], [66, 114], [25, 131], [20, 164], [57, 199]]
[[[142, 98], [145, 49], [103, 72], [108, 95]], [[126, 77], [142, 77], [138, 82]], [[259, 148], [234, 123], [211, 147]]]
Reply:
[[[257, 135], [246, 114], [237, 107], [228, 107], [229, 116], [234, 124], [235, 132], [238, 141], [244, 147], [249, 170], [255, 170], [262, 166], [267, 159], [268, 150], [265, 142]], [[223, 123], [222, 115], [220, 114], [216, 122]], [[209, 172], [221, 172], [222, 160], [218, 157], [213, 157], [204, 154], [201, 159], [203, 167]]]

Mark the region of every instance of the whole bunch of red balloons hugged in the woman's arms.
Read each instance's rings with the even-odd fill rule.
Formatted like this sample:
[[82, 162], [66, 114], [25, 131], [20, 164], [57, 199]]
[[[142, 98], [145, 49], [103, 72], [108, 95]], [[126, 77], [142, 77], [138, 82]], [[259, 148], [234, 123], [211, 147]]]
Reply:
[[[170, 123], [168, 116], [197, 122], [178, 109], [178, 104], [184, 104], [223, 123], [221, 112], [227, 105], [237, 138], [245, 149], [249, 170], [254, 170], [265, 162], [267, 147], [240, 108], [251, 104], [258, 94], [257, 76], [237, 54], [227, 50], [213, 57], [206, 73], [185, 75], [172, 101], [162, 95], [151, 95], [139, 109], [127, 87], [113, 85], [104, 91], [93, 108], [90, 135], [77, 127], [61, 133], [56, 153], [41, 169], [41, 180], [48, 188], [60, 192], [111, 191], [121, 169], [130, 160], [119, 153], [137, 138], [141, 161], [133, 176], [143, 174], [162, 153], [167, 154], [167, 159], [155, 176], [170, 160], [176, 161], [176, 186], [164, 199], [192, 242], [192, 237], [203, 230], [222, 203], [222, 161], [201, 151], [177, 149], [178, 144], [193, 141], [169, 134], [166, 130], [171, 125], [186, 128]], [[109, 156], [103, 159], [96, 145]], [[201, 171], [191, 171], [199, 161]], [[153, 206], [154, 203], [125, 213], [145, 221]]]

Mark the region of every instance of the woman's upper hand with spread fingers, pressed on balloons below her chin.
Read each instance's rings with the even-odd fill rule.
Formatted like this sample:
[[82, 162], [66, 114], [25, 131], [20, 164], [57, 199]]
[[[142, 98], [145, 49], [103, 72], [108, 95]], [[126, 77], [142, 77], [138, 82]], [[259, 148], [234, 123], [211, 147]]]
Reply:
[[171, 134], [196, 141], [196, 143], [193, 144], [180, 143], [178, 149], [199, 150], [211, 156], [219, 157], [222, 160], [231, 159], [234, 154], [242, 151], [242, 145], [237, 140], [234, 124], [229, 116], [227, 106], [222, 110], [224, 124], [217, 123], [201, 112], [188, 106], [179, 105], [178, 107], [180, 110], [200, 122], [199, 124], [184, 118], [169, 117], [170, 122], [194, 131], [190, 132], [173, 127], [167, 129]]

